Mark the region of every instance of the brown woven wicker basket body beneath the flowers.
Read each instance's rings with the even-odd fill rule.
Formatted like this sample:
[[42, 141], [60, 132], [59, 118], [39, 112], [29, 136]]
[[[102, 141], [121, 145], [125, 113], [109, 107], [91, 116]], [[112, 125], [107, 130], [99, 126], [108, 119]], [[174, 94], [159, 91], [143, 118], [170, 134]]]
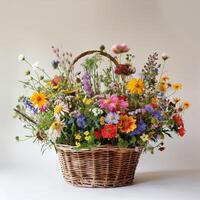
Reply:
[[133, 184], [142, 149], [100, 146], [77, 151], [59, 144], [57, 151], [67, 182], [82, 187], [120, 187]]

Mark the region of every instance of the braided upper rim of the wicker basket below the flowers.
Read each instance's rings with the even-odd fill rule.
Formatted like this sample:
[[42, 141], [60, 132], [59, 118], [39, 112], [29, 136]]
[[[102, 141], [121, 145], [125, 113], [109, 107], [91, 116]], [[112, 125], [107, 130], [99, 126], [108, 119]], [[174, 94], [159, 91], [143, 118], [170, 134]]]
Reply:
[[76, 149], [76, 146], [67, 145], [67, 144], [56, 144], [57, 150], [62, 151], [71, 151], [71, 152], [91, 152], [91, 151], [99, 151], [99, 150], [107, 150], [107, 151], [134, 151], [134, 152], [142, 152], [143, 148], [138, 147], [136, 150], [135, 147], [133, 148], [127, 148], [127, 147], [118, 147], [113, 145], [100, 145], [96, 147], [92, 147], [90, 149], [88, 148], [82, 148], [82, 149]]

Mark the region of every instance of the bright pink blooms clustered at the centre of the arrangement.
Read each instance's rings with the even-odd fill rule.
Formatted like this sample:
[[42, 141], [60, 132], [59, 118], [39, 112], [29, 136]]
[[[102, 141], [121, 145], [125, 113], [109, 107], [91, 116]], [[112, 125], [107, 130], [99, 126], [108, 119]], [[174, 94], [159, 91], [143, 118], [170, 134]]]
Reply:
[[99, 107], [110, 112], [116, 112], [119, 110], [126, 110], [128, 108], [128, 102], [125, 100], [125, 98], [111, 95], [106, 99], [100, 99]]

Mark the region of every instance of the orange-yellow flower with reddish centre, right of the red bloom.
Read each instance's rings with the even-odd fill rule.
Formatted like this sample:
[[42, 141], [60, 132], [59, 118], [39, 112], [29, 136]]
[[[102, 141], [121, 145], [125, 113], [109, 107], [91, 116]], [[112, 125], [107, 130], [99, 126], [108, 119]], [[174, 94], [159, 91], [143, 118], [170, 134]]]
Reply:
[[129, 133], [137, 128], [136, 119], [128, 115], [120, 115], [118, 128], [121, 132]]

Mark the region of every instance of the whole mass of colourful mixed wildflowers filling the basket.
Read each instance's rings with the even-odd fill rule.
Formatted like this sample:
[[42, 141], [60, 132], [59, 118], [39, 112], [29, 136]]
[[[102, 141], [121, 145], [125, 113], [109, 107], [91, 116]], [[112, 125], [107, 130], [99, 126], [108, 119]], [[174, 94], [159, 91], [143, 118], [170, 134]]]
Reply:
[[[32, 132], [27, 138], [41, 143], [43, 151], [56, 144], [77, 150], [109, 144], [153, 153], [164, 150], [166, 137], [184, 136], [182, 114], [190, 103], [173, 98], [182, 84], [164, 74], [166, 54], [161, 64], [157, 53], [150, 55], [136, 76], [134, 55], [125, 44], [114, 45], [113, 56], [101, 46], [74, 60], [71, 53], [52, 50], [53, 77], [19, 56], [30, 67], [21, 82], [31, 93], [20, 96], [14, 109]], [[89, 53], [77, 71], [76, 61]]]

